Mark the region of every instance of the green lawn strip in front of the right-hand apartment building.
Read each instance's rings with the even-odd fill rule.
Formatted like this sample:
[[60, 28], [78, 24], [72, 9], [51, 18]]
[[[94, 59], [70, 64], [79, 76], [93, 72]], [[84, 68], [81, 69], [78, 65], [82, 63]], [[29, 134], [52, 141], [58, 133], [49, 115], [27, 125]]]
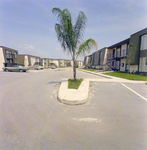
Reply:
[[147, 76], [126, 73], [126, 72], [108, 72], [108, 73], [103, 73], [103, 74], [114, 76], [114, 77], [119, 77], [123, 79], [128, 79], [128, 80], [147, 81]]

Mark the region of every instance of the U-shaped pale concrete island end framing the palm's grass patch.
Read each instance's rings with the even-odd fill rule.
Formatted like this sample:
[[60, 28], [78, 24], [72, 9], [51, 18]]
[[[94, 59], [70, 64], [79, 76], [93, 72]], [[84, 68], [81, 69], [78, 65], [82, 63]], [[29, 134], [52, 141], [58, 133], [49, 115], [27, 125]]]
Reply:
[[78, 89], [68, 89], [68, 79], [63, 79], [58, 92], [58, 100], [68, 105], [80, 105], [88, 101], [89, 80], [84, 79]]

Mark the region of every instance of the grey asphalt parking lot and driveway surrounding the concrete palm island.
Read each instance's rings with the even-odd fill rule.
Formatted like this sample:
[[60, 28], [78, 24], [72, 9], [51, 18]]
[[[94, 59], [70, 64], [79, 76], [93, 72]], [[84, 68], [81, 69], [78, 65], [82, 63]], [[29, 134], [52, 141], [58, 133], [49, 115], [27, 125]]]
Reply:
[[71, 77], [71, 68], [0, 72], [0, 149], [147, 149], [146, 84], [91, 82], [88, 102], [68, 106], [57, 92]]

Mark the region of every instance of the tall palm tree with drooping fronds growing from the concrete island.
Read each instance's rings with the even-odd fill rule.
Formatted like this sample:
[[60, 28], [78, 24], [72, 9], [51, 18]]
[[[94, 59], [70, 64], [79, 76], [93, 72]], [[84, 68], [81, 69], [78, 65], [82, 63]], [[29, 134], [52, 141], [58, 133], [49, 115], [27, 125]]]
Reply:
[[67, 51], [72, 56], [73, 61], [73, 76], [76, 81], [76, 59], [79, 55], [84, 55], [90, 52], [92, 48], [97, 49], [97, 43], [93, 39], [83, 41], [83, 34], [87, 22], [84, 12], [80, 11], [75, 25], [72, 23], [72, 17], [68, 9], [61, 10], [53, 8], [52, 13], [57, 15], [59, 24], [55, 24], [55, 31], [58, 41], [64, 51]]

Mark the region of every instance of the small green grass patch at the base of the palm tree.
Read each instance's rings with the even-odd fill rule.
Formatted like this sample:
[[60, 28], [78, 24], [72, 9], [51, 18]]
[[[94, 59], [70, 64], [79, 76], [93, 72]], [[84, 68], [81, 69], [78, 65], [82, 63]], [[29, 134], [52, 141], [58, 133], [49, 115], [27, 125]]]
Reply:
[[77, 79], [75, 82], [74, 79], [68, 79], [68, 88], [69, 89], [78, 89], [83, 79]]

